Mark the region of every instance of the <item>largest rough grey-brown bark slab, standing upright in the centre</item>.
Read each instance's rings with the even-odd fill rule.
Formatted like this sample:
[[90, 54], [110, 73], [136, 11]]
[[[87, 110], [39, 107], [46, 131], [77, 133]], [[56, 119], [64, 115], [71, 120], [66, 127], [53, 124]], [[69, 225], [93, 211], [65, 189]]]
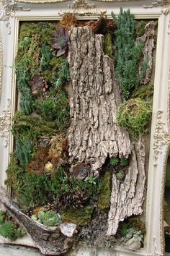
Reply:
[[89, 27], [73, 27], [70, 40], [70, 161], [90, 163], [97, 172], [108, 155], [128, 158], [130, 154], [128, 132], [116, 124], [120, 89], [114, 63], [104, 55], [102, 35], [94, 35]]

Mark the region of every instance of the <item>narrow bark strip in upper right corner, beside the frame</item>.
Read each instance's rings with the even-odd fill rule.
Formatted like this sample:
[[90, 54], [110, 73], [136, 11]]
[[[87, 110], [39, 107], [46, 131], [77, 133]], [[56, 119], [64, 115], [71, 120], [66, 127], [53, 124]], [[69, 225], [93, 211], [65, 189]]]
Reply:
[[[156, 22], [148, 22], [145, 27], [144, 35], [138, 38], [138, 40], [143, 42], [143, 61], [148, 60], [146, 76], [140, 82], [140, 84], [146, 85], [151, 80], [153, 67], [153, 48], [155, 48], [156, 41]], [[139, 64], [139, 73], [141, 73], [143, 61]]]

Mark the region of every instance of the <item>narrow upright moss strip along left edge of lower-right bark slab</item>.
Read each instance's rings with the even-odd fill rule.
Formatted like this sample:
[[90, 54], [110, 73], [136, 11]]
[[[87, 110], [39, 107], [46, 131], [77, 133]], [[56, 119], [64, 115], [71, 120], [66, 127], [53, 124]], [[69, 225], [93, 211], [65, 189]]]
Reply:
[[99, 191], [99, 200], [97, 201], [97, 205], [101, 209], [109, 208], [111, 195], [111, 180], [112, 174], [110, 172], [104, 174], [102, 187]]

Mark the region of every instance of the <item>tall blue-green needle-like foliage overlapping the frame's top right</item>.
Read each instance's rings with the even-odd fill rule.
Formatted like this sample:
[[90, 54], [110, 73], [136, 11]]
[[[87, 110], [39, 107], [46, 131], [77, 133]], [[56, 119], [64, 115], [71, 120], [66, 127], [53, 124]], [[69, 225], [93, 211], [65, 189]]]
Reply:
[[[130, 98], [133, 91], [138, 88], [140, 80], [145, 72], [141, 72], [142, 77], [138, 74], [138, 62], [143, 51], [143, 43], [135, 42], [135, 20], [133, 15], [128, 11], [122, 11], [115, 17], [112, 17], [117, 25], [115, 31], [115, 60], [116, 75], [122, 88], [122, 94], [125, 99]], [[146, 65], [143, 65], [146, 67]]]

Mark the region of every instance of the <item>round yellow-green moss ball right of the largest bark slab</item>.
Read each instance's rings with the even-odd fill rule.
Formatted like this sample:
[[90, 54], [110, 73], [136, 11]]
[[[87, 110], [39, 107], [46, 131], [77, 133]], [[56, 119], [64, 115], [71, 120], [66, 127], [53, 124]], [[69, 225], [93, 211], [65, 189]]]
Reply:
[[151, 119], [151, 103], [140, 98], [132, 98], [120, 106], [117, 113], [117, 123], [125, 128], [133, 139], [146, 131]]

